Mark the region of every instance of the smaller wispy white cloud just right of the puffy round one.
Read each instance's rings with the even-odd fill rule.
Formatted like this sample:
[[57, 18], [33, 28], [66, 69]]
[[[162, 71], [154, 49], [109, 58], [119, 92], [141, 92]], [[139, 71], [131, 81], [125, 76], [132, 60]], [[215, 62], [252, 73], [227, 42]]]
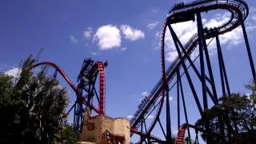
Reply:
[[122, 25], [120, 29], [122, 30], [122, 34], [125, 35], [125, 38], [130, 39], [130, 41], [136, 41], [145, 37], [142, 30], [134, 29], [129, 25]]

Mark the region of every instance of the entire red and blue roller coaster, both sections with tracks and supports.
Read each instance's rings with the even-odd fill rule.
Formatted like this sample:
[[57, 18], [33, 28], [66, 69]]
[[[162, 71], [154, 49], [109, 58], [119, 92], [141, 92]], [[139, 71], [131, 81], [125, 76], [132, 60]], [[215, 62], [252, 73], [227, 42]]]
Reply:
[[[222, 26], [216, 27], [203, 27], [202, 24], [202, 13], [210, 10], [227, 10], [230, 12], [230, 19]], [[214, 105], [218, 104], [218, 94], [214, 81], [214, 74], [211, 67], [209, 51], [207, 49], [206, 39], [216, 40], [216, 47], [218, 52], [218, 66], [220, 73], [220, 80], [222, 86], [222, 95], [230, 95], [230, 86], [226, 74], [226, 66], [222, 54], [222, 48], [220, 44], [219, 35], [225, 34], [231, 30], [234, 30], [238, 26], [242, 27], [244, 40], [246, 43], [246, 52], [248, 54], [250, 70], [253, 78], [255, 78], [255, 68], [250, 51], [250, 45], [246, 34], [246, 27], [244, 21], [249, 14], [249, 7], [245, 1], [242, 0], [198, 0], [194, 2], [180, 2], [171, 8], [167, 15], [166, 21], [162, 26], [162, 37], [161, 37], [161, 61], [162, 61], [162, 78], [154, 86], [150, 94], [147, 95], [142, 103], [139, 104], [138, 110], [135, 112], [134, 117], [130, 119], [130, 131], [131, 137], [134, 134], [139, 135], [138, 143], [170, 143], [171, 142], [171, 123], [170, 123], [170, 90], [177, 90], [178, 100], [178, 136], [175, 143], [183, 143], [185, 132], [187, 130], [188, 136], [190, 137], [190, 129], [194, 129], [195, 133], [199, 130], [196, 126], [190, 125], [188, 121], [188, 114], [186, 111], [186, 102], [182, 86], [182, 76], [186, 77], [186, 80], [190, 86], [190, 90], [193, 94], [194, 101], [196, 103], [198, 113], [201, 114], [204, 110], [208, 109], [208, 98]], [[177, 34], [175, 34], [172, 24], [179, 22], [197, 22], [198, 33], [194, 34], [185, 45], [179, 40]], [[168, 29], [167, 29], [168, 27]], [[170, 32], [173, 38], [175, 48], [178, 52], [178, 57], [170, 64], [166, 69], [165, 63], [165, 38], [166, 32]], [[197, 49], [198, 48], [198, 49]], [[198, 50], [198, 57], [200, 67], [197, 68], [194, 65], [196, 59], [192, 59], [190, 54]], [[206, 67], [205, 67], [206, 63]], [[89, 106], [91, 110], [94, 110], [96, 114], [105, 114], [105, 67], [107, 62], [94, 62], [90, 58], [86, 58], [82, 65], [82, 70], [78, 75], [78, 86], [74, 86], [70, 78], [67, 77], [64, 70], [59, 66], [51, 62], [40, 62], [37, 66], [52, 66], [58, 71], [70, 87], [74, 90], [77, 95], [76, 102], [71, 106], [68, 112], [74, 109], [74, 128], [81, 130], [83, 110], [85, 106]], [[196, 74], [199, 82], [202, 85], [202, 92], [198, 92], [195, 89], [194, 82], [191, 78], [189, 68], [192, 68]], [[206, 71], [208, 74], [206, 74]], [[99, 86], [95, 83], [99, 75]], [[202, 103], [199, 101], [198, 95], [202, 95]], [[182, 98], [182, 109], [185, 115], [185, 122], [181, 124], [181, 110], [180, 110], [180, 97]], [[96, 98], [96, 102], [93, 100]], [[98, 104], [98, 107], [96, 106]], [[163, 106], [166, 107], [165, 117], [161, 117]], [[203, 106], [203, 107], [202, 107]], [[154, 118], [149, 120], [150, 116]], [[166, 122], [166, 127], [162, 125], [162, 121]], [[158, 124], [158, 126], [156, 126]], [[160, 127], [163, 138], [154, 136], [153, 130], [156, 127]], [[189, 129], [190, 128], [190, 129]], [[198, 142], [198, 135], [194, 142]]]

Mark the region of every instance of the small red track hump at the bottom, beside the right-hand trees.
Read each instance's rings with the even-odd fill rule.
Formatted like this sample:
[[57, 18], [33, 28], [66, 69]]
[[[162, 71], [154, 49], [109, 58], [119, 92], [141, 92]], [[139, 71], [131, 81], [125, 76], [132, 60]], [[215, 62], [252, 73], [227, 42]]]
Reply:
[[183, 144], [187, 128], [193, 128], [195, 130], [195, 134], [198, 134], [199, 130], [196, 126], [184, 123], [178, 130], [178, 135], [175, 144]]

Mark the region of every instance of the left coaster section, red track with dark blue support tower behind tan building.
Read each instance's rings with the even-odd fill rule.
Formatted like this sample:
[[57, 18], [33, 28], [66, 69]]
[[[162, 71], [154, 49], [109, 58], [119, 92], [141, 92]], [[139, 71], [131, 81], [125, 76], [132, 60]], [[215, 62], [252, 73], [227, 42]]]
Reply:
[[[74, 105], [68, 110], [68, 114], [71, 110], [74, 110], [74, 129], [81, 131], [82, 122], [84, 118], [84, 110], [86, 106], [89, 106], [91, 110], [94, 110], [96, 114], [105, 114], [105, 67], [107, 62], [94, 62], [90, 58], [86, 58], [82, 64], [82, 69], [78, 74], [78, 86], [70, 80], [62, 68], [52, 62], [39, 62], [34, 65], [33, 68], [38, 66], [51, 66], [54, 68], [54, 77], [57, 72], [62, 75], [66, 82], [74, 90], [77, 98]], [[99, 76], [99, 86], [95, 86], [97, 78]], [[94, 100], [96, 98], [96, 101]], [[98, 104], [98, 107], [95, 106]]]

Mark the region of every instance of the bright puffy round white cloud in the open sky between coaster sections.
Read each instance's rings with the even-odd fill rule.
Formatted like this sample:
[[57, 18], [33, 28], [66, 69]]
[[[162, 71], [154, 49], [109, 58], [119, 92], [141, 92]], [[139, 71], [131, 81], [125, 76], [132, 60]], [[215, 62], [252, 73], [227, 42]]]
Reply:
[[100, 26], [94, 34], [93, 42], [97, 42], [99, 50], [110, 50], [121, 46], [120, 30], [116, 26]]

